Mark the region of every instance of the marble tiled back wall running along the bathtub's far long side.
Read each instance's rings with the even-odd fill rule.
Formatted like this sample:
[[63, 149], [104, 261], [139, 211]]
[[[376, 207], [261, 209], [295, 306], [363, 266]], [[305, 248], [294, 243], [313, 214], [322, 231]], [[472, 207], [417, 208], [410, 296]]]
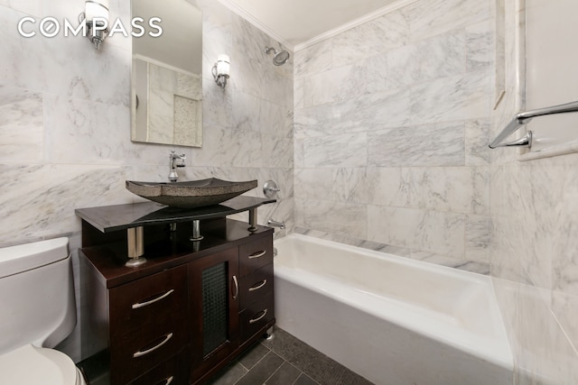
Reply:
[[295, 225], [489, 263], [489, 1], [418, 0], [295, 53]]

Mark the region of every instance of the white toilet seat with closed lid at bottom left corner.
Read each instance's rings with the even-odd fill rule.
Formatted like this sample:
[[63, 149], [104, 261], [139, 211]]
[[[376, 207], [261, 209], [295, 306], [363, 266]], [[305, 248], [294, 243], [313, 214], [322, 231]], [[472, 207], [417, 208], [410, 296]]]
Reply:
[[0, 383], [11, 385], [86, 385], [70, 357], [53, 349], [24, 345], [0, 355]]

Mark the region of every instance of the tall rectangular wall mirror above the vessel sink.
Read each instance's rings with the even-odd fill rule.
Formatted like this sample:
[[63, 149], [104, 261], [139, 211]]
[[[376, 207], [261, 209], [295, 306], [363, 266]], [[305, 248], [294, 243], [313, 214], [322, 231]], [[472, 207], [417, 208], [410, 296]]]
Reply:
[[185, 0], [132, 0], [131, 8], [131, 140], [200, 147], [202, 14]]

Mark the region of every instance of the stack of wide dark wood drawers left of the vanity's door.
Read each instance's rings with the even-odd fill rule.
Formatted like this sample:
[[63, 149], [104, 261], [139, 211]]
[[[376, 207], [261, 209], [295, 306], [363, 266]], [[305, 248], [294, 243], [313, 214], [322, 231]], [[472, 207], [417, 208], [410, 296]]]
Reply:
[[186, 266], [108, 290], [110, 362], [118, 368], [112, 383], [128, 383], [186, 348], [187, 298]]

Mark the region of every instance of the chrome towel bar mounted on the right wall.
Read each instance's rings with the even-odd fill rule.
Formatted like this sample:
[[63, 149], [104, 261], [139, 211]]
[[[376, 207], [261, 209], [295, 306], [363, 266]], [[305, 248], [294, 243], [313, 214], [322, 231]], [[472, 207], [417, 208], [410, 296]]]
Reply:
[[514, 142], [502, 143], [509, 135], [517, 131], [522, 125], [527, 124], [536, 116], [555, 115], [564, 113], [578, 112], [578, 101], [565, 103], [564, 105], [552, 105], [550, 107], [539, 108], [537, 110], [526, 111], [519, 113], [511, 120], [510, 123], [496, 136], [496, 139], [489, 143], [490, 149], [498, 147], [531, 147], [532, 146], [532, 132], [528, 131], [526, 135]]

